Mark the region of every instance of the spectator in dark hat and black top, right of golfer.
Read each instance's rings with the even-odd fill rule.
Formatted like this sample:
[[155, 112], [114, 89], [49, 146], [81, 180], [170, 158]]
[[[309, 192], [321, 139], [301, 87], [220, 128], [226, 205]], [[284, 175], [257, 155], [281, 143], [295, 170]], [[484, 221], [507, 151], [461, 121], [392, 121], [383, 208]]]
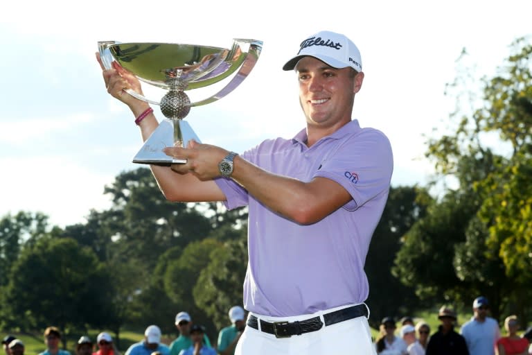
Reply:
[[454, 331], [456, 313], [450, 306], [441, 306], [438, 311], [441, 325], [432, 334], [427, 345], [426, 355], [469, 355], [465, 339]]

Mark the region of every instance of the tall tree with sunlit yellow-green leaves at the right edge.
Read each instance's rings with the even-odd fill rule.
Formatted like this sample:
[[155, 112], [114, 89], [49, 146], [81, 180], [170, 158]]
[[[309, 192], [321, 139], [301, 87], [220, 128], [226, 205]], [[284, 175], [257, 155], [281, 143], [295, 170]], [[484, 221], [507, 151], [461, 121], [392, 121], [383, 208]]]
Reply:
[[[469, 112], [464, 112], [465, 106], [456, 110], [450, 120], [456, 123], [455, 127], [447, 135], [430, 139], [427, 151], [427, 156], [434, 159], [436, 179], [449, 181], [447, 177], [452, 176], [456, 182], [453, 190], [447, 188], [443, 193], [445, 197], [430, 214], [459, 218], [459, 226], [452, 226], [455, 245], [446, 257], [452, 260], [454, 275], [461, 281], [460, 287], [452, 287], [442, 279], [440, 286], [434, 289], [427, 283], [427, 290], [434, 294], [437, 289], [445, 288], [445, 295], [453, 297], [454, 294], [458, 298], [466, 290], [490, 295], [497, 305], [495, 315], [517, 309], [525, 318], [531, 315], [526, 300], [532, 295], [526, 286], [532, 281], [529, 276], [532, 270], [531, 54], [529, 40], [516, 40], [513, 53], [497, 75], [481, 80], [484, 87], [480, 99], [474, 94], [459, 92], [457, 102], [459, 98], [468, 97]], [[475, 81], [466, 74], [457, 78], [450, 88], [470, 90], [471, 83]], [[499, 138], [497, 147], [490, 143], [493, 137]], [[452, 206], [454, 198], [460, 199], [456, 207]], [[430, 222], [429, 219], [414, 226], [409, 236], [427, 237], [430, 232], [427, 223], [438, 224], [437, 220]], [[407, 250], [402, 255], [404, 259], [408, 259], [406, 254]], [[397, 263], [397, 267], [402, 266]], [[412, 282], [408, 280], [408, 271], [398, 270], [403, 282]], [[447, 271], [450, 276], [448, 268]], [[423, 290], [425, 280], [418, 278], [416, 281], [421, 283], [418, 291]], [[453, 288], [454, 292], [450, 291]], [[459, 288], [463, 288], [461, 293]], [[469, 305], [470, 300], [465, 304]]]

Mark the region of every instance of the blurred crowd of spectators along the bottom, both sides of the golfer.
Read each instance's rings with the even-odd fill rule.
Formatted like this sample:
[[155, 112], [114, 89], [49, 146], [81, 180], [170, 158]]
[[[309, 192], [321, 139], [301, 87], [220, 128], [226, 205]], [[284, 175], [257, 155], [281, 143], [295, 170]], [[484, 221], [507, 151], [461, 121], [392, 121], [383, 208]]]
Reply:
[[[459, 331], [457, 316], [451, 306], [441, 306], [438, 311], [440, 325], [431, 334], [424, 320], [403, 317], [396, 322], [385, 317], [375, 339], [375, 351], [379, 355], [532, 355], [532, 327], [519, 334], [516, 315], [504, 320], [506, 335], [502, 336], [499, 324], [488, 316], [489, 302], [477, 297], [472, 306], [473, 315]], [[227, 327], [220, 329], [218, 341], [211, 344], [204, 327], [194, 324], [185, 311], [175, 316], [179, 336], [169, 345], [161, 340], [161, 329], [152, 324], [144, 331], [143, 340], [127, 348], [124, 355], [234, 355], [236, 344], [246, 327], [246, 312], [241, 306], [229, 310]], [[46, 350], [38, 355], [71, 355], [60, 349], [61, 333], [56, 327], [44, 331]], [[24, 343], [8, 335], [2, 340], [6, 355], [24, 355]], [[81, 336], [74, 355], [121, 355], [109, 333], [102, 332], [93, 343], [89, 336]]]

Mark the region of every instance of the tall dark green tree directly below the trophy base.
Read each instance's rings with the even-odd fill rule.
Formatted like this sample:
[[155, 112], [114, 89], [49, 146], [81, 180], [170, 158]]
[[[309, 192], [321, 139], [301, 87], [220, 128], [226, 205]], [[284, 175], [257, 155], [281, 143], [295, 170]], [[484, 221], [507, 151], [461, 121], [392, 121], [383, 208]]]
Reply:
[[105, 193], [112, 196], [116, 214], [108, 232], [120, 241], [118, 252], [150, 272], [166, 250], [204, 239], [211, 230], [209, 218], [194, 204], [167, 201], [148, 168], [121, 173]]

